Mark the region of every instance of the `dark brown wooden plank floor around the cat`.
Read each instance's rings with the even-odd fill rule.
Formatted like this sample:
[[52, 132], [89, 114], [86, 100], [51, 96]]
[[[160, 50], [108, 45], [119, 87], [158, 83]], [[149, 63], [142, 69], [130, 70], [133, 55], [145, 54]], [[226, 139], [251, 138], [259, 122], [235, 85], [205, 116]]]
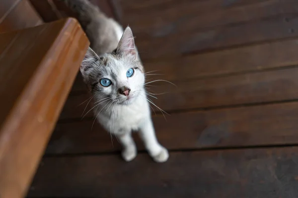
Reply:
[[[94, 0], [93, 0], [94, 1]], [[297, 198], [298, 0], [114, 0], [136, 36], [156, 110], [154, 163], [129, 163], [91, 111], [80, 75], [30, 198]], [[158, 70], [158, 71], [155, 71]], [[85, 112], [90, 109], [87, 106]], [[112, 143], [113, 142], [113, 143]]]

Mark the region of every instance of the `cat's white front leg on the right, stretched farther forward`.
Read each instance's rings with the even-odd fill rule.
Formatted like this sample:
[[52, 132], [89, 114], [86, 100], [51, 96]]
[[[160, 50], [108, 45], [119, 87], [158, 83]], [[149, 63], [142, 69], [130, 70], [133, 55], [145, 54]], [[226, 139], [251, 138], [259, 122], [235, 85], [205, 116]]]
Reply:
[[155, 162], [165, 162], [169, 157], [169, 153], [166, 148], [158, 143], [150, 117], [142, 122], [139, 133], [153, 160]]

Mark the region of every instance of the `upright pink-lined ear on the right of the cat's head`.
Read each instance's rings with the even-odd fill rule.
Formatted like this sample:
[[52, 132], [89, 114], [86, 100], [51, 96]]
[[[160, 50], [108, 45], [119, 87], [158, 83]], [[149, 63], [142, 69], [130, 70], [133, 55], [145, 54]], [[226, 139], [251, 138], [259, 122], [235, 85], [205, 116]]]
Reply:
[[126, 55], [138, 57], [138, 50], [135, 46], [134, 35], [130, 27], [124, 30], [124, 33], [119, 41], [117, 52], [122, 52]]

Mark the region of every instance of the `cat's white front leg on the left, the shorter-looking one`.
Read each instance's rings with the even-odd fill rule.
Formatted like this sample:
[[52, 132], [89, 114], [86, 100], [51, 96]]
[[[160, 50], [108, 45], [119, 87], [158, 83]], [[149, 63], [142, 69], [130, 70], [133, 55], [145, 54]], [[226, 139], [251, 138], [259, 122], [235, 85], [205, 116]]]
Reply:
[[125, 161], [131, 161], [137, 156], [137, 147], [131, 132], [116, 135], [123, 147], [121, 155]]

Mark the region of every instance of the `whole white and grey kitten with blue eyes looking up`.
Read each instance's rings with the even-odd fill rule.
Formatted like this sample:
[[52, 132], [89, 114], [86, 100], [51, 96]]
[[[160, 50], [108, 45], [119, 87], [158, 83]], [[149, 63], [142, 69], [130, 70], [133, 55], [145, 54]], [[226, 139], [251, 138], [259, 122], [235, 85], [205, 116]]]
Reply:
[[103, 14], [88, 0], [63, 0], [90, 40], [80, 66], [83, 81], [94, 99], [96, 119], [121, 143], [125, 161], [137, 156], [132, 132], [138, 131], [155, 162], [165, 162], [168, 150], [155, 136], [145, 90], [145, 70], [128, 26]]

